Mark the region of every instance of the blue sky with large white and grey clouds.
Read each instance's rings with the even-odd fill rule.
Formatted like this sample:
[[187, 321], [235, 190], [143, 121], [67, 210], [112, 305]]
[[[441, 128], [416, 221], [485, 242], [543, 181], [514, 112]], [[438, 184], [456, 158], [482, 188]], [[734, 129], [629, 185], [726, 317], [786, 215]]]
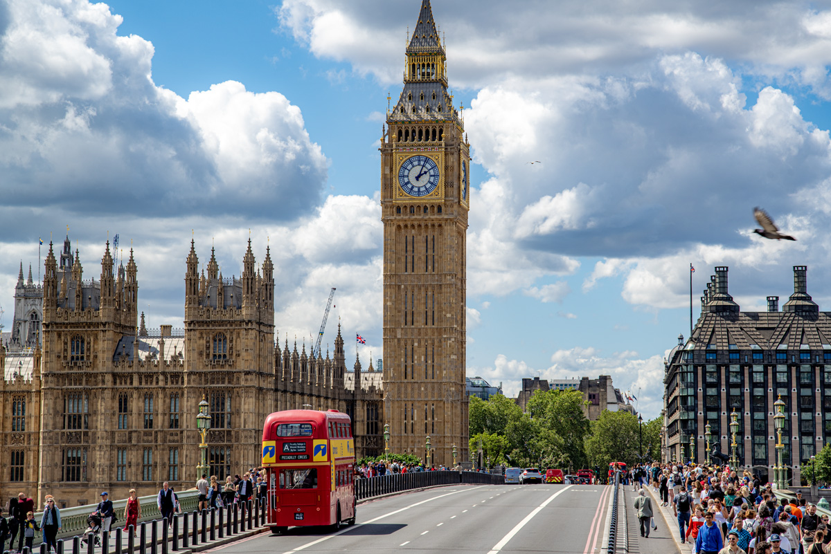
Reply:
[[[611, 375], [661, 411], [715, 265], [744, 310], [831, 304], [831, 2], [434, 0], [472, 146], [469, 377]], [[0, 0], [0, 320], [67, 228], [116, 234], [147, 324], [182, 326], [189, 241], [270, 248], [281, 342], [381, 357], [380, 156], [420, 0]], [[530, 161], [540, 163], [530, 164]], [[770, 212], [795, 242], [756, 236]], [[350, 357], [354, 347], [347, 347]]]

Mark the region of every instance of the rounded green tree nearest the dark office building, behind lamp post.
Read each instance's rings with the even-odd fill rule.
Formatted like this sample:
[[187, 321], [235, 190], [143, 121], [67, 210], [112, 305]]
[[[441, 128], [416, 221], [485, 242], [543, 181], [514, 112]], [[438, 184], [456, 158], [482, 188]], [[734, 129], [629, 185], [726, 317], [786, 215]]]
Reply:
[[591, 464], [602, 469], [610, 462], [638, 461], [636, 416], [626, 411], [604, 410], [597, 421], [592, 421], [591, 429], [586, 440], [586, 454]]

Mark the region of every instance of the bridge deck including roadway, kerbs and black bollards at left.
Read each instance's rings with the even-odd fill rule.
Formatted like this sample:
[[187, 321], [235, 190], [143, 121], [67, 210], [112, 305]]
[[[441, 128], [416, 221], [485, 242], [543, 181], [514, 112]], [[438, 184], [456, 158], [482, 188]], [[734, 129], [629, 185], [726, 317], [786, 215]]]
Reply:
[[[640, 537], [631, 486], [506, 485], [490, 475], [456, 472], [414, 475], [418, 481], [401, 479], [404, 475], [390, 477], [393, 479], [359, 481], [360, 496], [365, 498], [358, 505], [356, 524], [340, 530], [290, 527], [288, 532], [273, 535], [265, 514], [256, 505], [246, 518], [240, 514], [239, 522], [234, 515], [232, 526], [235, 505], [234, 509], [224, 511], [224, 518], [219, 518], [219, 513], [210, 517], [185, 513], [175, 518], [170, 529], [158, 521], [144, 522], [145, 528], [140, 530], [140, 538], [135, 542], [127, 533], [122, 536], [114, 526], [114, 531], [106, 537], [106, 546], [101, 549], [78, 547], [74, 537], [65, 537], [59, 551], [61, 554], [187, 554], [207, 550], [222, 554], [682, 552], [681, 545], [672, 538], [678, 533], [677, 526], [671, 516], [661, 516], [654, 495], [658, 529], [648, 539]], [[428, 478], [434, 484], [425, 487], [422, 481]], [[457, 482], [435, 484], [450, 479]], [[405, 487], [409, 489], [402, 490]], [[189, 497], [190, 493], [182, 495]], [[683, 552], [690, 552], [685, 547]]]

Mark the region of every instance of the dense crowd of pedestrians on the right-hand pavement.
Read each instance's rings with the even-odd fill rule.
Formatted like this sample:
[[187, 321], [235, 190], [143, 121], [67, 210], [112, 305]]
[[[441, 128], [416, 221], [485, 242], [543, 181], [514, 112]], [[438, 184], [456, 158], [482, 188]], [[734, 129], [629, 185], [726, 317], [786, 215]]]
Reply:
[[655, 462], [624, 473], [638, 491], [642, 537], [656, 528], [646, 493], [652, 487], [661, 506], [671, 506], [681, 542], [690, 542], [693, 554], [831, 554], [829, 517], [802, 493], [777, 498], [750, 471]]

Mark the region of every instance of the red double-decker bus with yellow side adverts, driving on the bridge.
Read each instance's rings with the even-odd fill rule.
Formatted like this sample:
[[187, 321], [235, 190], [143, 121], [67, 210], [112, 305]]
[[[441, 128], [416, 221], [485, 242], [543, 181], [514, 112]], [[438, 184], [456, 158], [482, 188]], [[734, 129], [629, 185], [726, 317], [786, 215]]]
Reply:
[[263, 425], [268, 522], [292, 526], [355, 522], [355, 443], [349, 416], [337, 410], [276, 411]]

